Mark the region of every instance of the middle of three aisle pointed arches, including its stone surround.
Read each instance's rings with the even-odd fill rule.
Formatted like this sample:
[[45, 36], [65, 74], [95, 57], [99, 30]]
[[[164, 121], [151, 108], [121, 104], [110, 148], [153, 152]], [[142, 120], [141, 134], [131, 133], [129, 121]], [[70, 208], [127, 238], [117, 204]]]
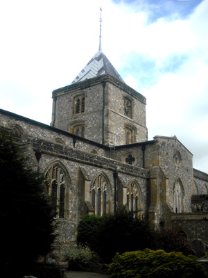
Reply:
[[111, 212], [112, 186], [107, 175], [99, 172], [92, 180], [90, 199], [94, 208], [94, 214], [101, 216]]

